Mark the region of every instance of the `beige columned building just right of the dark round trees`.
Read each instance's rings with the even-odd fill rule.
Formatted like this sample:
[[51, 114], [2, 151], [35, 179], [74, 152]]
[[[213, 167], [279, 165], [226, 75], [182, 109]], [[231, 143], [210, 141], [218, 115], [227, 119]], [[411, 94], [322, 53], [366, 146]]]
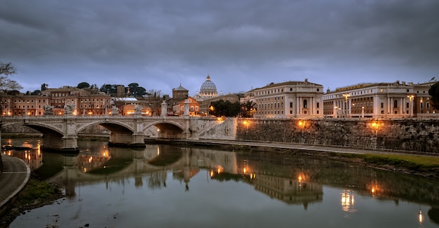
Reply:
[[270, 83], [255, 88], [254, 94], [255, 117], [323, 117], [323, 86], [308, 79]]

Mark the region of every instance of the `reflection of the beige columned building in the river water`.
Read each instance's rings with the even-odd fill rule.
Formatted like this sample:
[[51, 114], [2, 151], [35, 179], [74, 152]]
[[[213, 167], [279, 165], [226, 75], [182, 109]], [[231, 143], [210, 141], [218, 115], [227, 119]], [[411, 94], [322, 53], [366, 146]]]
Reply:
[[285, 203], [304, 204], [323, 200], [323, 185], [304, 180], [258, 174], [255, 189]]

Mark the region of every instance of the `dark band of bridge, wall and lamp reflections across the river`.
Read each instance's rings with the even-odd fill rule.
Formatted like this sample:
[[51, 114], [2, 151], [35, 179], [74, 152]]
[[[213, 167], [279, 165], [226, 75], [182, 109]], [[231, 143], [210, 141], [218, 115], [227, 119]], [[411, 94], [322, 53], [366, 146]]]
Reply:
[[[358, 204], [365, 199], [393, 202], [396, 208], [400, 202], [409, 202], [414, 205], [410, 217], [416, 219], [417, 224], [439, 224], [439, 192], [435, 191], [438, 182], [428, 178], [285, 154], [235, 153], [169, 145], [129, 149], [90, 141], [81, 142], [83, 151], [79, 154], [55, 154], [39, 151], [38, 142], [27, 143], [33, 149], [4, 153], [29, 161], [29, 166], [32, 164], [45, 180], [64, 187], [69, 199], [83, 199], [81, 189], [100, 182], [105, 183], [109, 192], [122, 185], [123, 194], [129, 186], [152, 192], [164, 193], [177, 188], [177, 192], [200, 194], [197, 178], [205, 176], [208, 182], [242, 183], [268, 199], [288, 207], [299, 206], [302, 211], [334, 201], [335, 205], [327, 206], [326, 210], [341, 208], [346, 218], [356, 214], [366, 216], [361, 209], [364, 205]], [[325, 192], [327, 188], [336, 189], [336, 194]]]

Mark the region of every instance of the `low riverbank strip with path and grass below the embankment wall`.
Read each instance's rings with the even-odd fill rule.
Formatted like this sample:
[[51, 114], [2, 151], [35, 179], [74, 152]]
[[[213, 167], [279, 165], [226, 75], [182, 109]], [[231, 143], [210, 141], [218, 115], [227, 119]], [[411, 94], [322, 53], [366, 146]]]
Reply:
[[439, 156], [418, 152], [389, 152], [379, 150], [353, 149], [346, 147], [316, 147], [276, 142], [249, 142], [224, 140], [149, 140], [149, 143], [166, 143], [182, 147], [209, 147], [232, 152], [267, 152], [295, 154], [357, 163], [370, 168], [419, 175], [439, 180]]

